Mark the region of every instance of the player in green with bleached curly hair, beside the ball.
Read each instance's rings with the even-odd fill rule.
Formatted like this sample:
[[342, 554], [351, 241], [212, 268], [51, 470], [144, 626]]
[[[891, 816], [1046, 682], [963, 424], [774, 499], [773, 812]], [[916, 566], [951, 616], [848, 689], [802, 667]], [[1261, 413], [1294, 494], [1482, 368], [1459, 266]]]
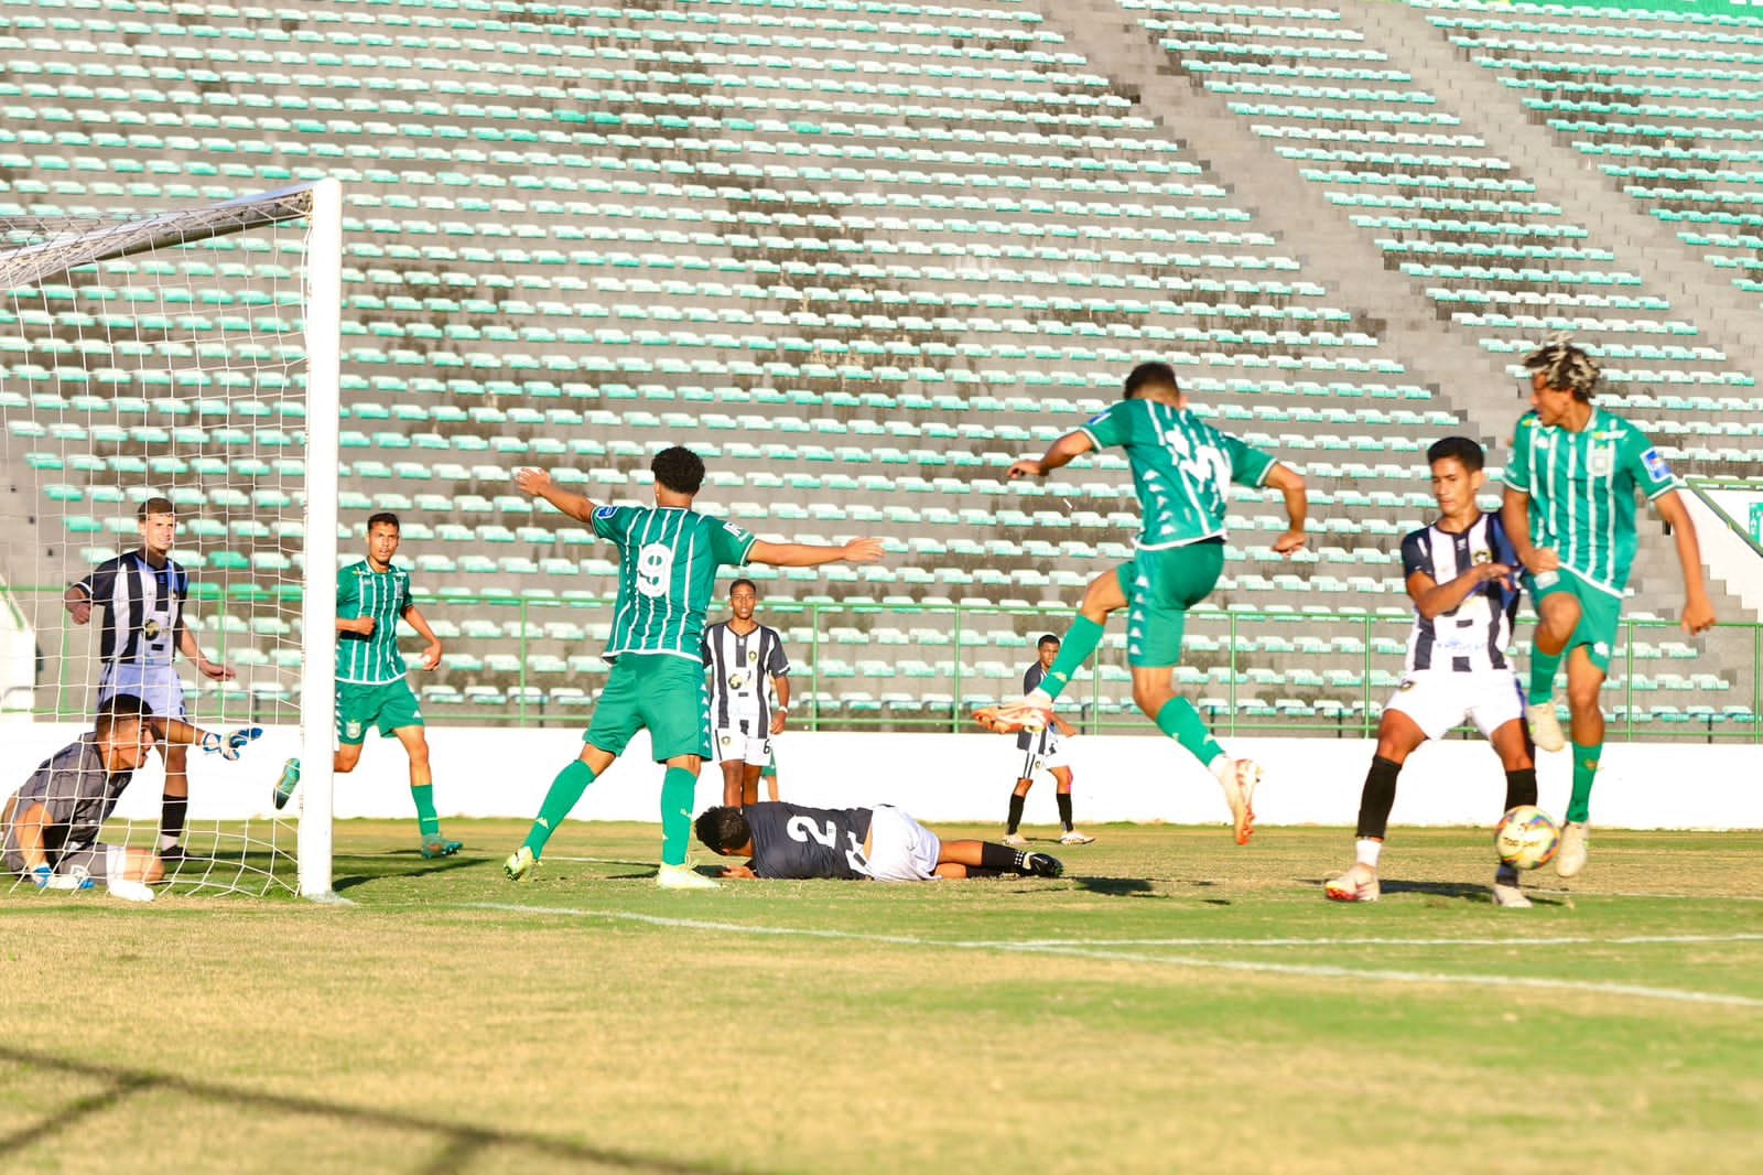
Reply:
[[1537, 609], [1530, 651], [1530, 737], [1562, 750], [1555, 716], [1555, 672], [1567, 658], [1567, 713], [1573, 727], [1573, 797], [1555, 872], [1585, 868], [1592, 782], [1604, 753], [1604, 715], [1597, 692], [1617, 644], [1622, 591], [1634, 566], [1634, 490], [1671, 528], [1684, 568], [1684, 632], [1714, 623], [1701, 580], [1696, 524], [1677, 496], [1680, 482], [1659, 450], [1627, 420], [1592, 404], [1597, 363], [1583, 349], [1555, 341], [1525, 356], [1530, 404], [1513, 434], [1500, 519], [1513, 540], [1525, 589]]

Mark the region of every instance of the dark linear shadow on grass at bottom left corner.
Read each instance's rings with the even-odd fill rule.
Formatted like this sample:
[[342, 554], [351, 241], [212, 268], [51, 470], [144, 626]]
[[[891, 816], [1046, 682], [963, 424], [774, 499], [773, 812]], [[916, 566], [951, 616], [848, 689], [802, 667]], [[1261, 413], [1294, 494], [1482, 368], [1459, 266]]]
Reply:
[[317, 1097], [298, 1097], [287, 1094], [266, 1094], [261, 1090], [220, 1085], [217, 1081], [199, 1081], [176, 1073], [155, 1073], [150, 1069], [130, 1069], [123, 1066], [104, 1066], [90, 1060], [72, 1060], [39, 1053], [25, 1048], [0, 1046], [0, 1060], [12, 1066], [30, 1066], [53, 1073], [102, 1081], [104, 1089], [83, 1094], [67, 1101], [42, 1119], [16, 1131], [0, 1134], [0, 1154], [7, 1154], [23, 1145], [37, 1145], [58, 1133], [79, 1129], [79, 1124], [97, 1113], [106, 1113], [139, 1092], [176, 1094], [192, 1103], [210, 1103], [208, 1108], [243, 1106], [250, 1110], [294, 1113], [301, 1117], [323, 1119], [337, 1124], [377, 1127], [390, 1131], [414, 1131], [427, 1134], [439, 1145], [439, 1152], [421, 1161], [411, 1170], [418, 1175], [446, 1175], [458, 1171], [487, 1150], [510, 1149], [524, 1152], [527, 1159], [552, 1159], [562, 1163], [599, 1164], [624, 1171], [654, 1171], [658, 1175], [719, 1175], [725, 1168], [675, 1163], [603, 1147], [585, 1147], [582, 1143], [522, 1131], [502, 1131], [481, 1126], [458, 1126], [439, 1119], [425, 1119], [414, 1113], [395, 1110], [370, 1110], [349, 1106]]

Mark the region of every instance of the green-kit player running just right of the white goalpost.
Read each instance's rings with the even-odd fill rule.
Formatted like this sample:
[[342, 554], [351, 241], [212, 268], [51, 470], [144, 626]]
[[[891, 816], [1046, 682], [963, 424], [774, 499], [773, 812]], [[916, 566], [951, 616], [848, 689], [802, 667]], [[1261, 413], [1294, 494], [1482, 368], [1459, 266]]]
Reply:
[[[421, 852], [425, 857], [450, 857], [462, 845], [441, 834], [428, 736], [416, 692], [404, 679], [409, 670], [398, 653], [398, 621], [407, 621], [427, 640], [423, 669], [441, 665], [441, 639], [411, 598], [411, 573], [391, 566], [398, 538], [398, 515], [376, 513], [367, 520], [367, 558], [337, 572], [337, 757], [331, 769], [338, 775], [354, 771], [372, 727], [398, 739], [411, 760], [411, 799], [416, 801]], [[300, 760], [289, 759], [275, 785], [277, 808], [287, 803], [298, 782]]]

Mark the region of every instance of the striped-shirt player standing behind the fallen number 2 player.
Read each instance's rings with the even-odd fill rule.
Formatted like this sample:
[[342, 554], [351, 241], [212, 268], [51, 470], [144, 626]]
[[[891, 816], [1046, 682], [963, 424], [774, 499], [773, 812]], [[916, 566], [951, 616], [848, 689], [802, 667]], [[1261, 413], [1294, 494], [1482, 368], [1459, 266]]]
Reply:
[[[790, 658], [783, 633], [753, 619], [758, 586], [737, 579], [728, 588], [732, 616], [703, 630], [703, 665], [710, 670], [710, 746], [723, 767], [723, 803], [739, 808], [760, 797], [760, 773], [772, 764], [772, 739], [790, 715]], [[777, 690], [772, 706], [765, 690]], [[777, 776], [770, 776], [777, 799]]]

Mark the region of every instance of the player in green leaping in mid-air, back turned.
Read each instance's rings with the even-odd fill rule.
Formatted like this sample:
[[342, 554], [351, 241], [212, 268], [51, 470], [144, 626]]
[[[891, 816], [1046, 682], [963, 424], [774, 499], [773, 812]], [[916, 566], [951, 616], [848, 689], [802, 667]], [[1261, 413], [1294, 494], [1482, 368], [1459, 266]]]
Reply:
[[1231, 805], [1236, 843], [1248, 843], [1261, 766], [1224, 753], [1194, 704], [1176, 695], [1172, 670], [1181, 662], [1188, 609], [1206, 598], [1224, 570], [1231, 485], [1266, 485], [1283, 494], [1289, 526], [1273, 549], [1289, 556], [1305, 545], [1305, 480], [1195, 416], [1169, 363], [1134, 367], [1120, 404], [1061, 436], [1040, 460], [1015, 462], [1010, 476], [1045, 476], [1082, 453], [1111, 445], [1125, 446], [1139, 492], [1144, 529], [1135, 540], [1137, 554], [1090, 582], [1077, 619], [1040, 686], [1019, 702], [980, 709], [975, 720], [998, 732], [1044, 729], [1053, 700], [1102, 640], [1109, 614], [1127, 609], [1132, 700], [1158, 730], [1218, 778]]

